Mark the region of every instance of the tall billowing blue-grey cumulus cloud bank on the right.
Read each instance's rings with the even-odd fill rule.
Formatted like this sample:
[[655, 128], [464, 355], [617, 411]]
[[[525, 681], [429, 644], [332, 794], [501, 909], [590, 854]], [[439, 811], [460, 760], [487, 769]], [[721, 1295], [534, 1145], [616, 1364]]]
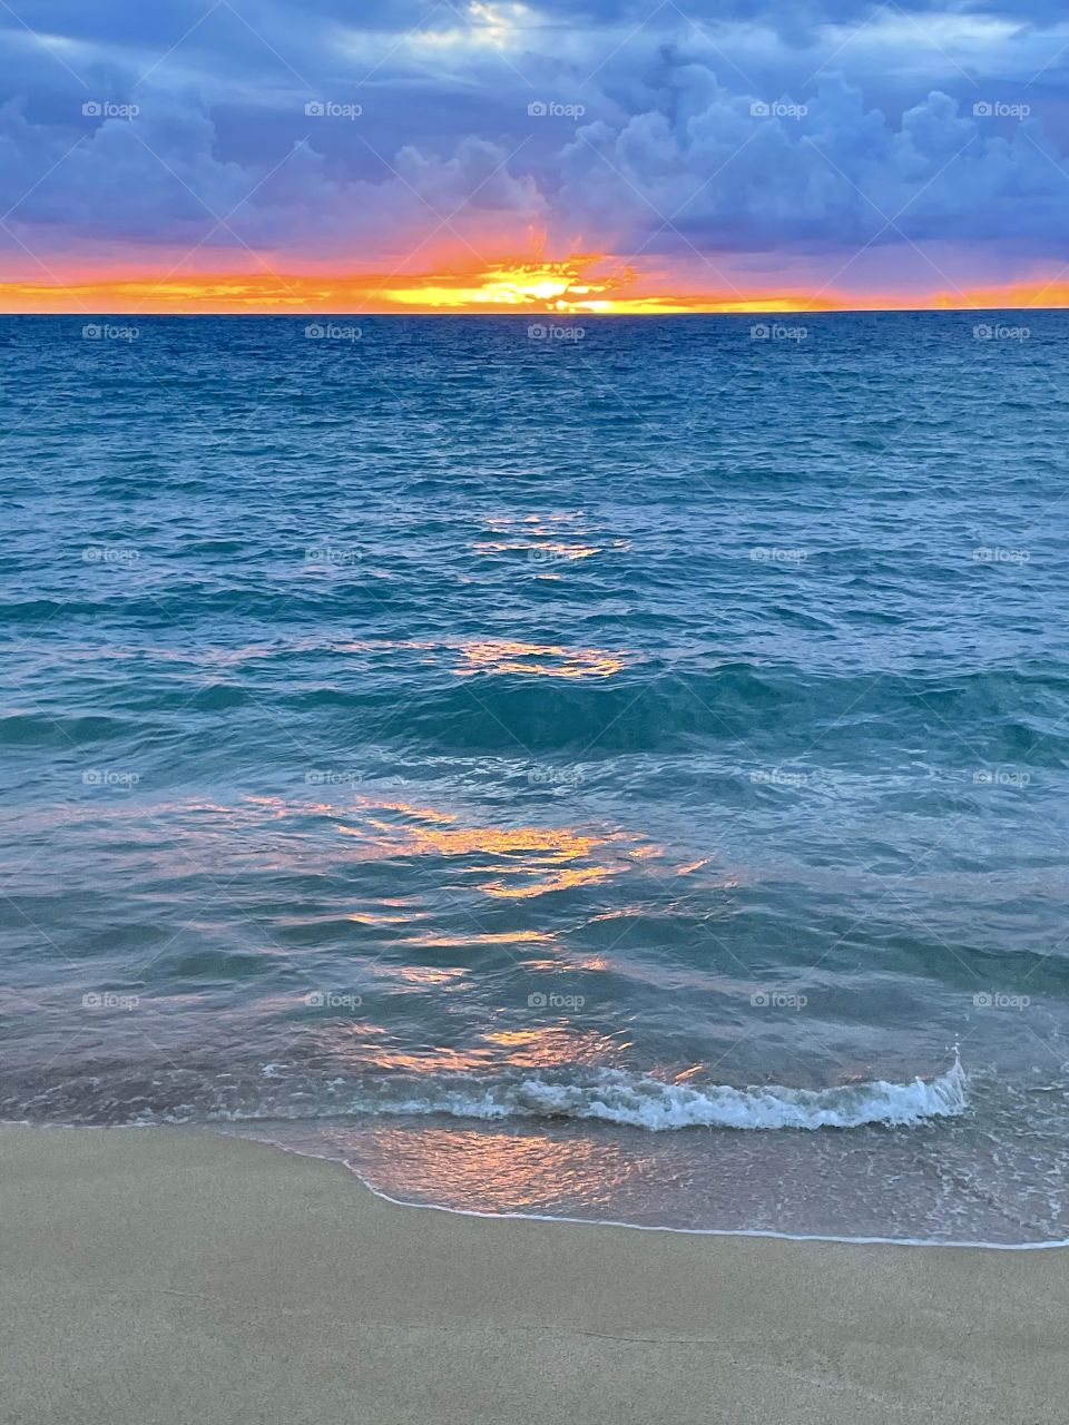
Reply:
[[[667, 113], [671, 107], [671, 114]], [[805, 104], [728, 93], [694, 67], [676, 103], [580, 128], [559, 208], [616, 249], [801, 252], [1008, 239], [1056, 254], [1069, 170], [1038, 120], [964, 113], [932, 93], [895, 125], [841, 80]]]

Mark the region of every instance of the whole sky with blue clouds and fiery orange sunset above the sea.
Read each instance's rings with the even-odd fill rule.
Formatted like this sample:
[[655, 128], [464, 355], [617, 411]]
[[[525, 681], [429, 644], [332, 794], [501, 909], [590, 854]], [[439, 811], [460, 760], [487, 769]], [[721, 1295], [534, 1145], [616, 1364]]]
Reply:
[[1069, 305], [1055, 0], [1, 0], [3, 311]]

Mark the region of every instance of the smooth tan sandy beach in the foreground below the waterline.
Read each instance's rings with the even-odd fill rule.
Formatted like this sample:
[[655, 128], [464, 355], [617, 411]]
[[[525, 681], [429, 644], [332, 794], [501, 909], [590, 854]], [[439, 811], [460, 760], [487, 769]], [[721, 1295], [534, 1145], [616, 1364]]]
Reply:
[[0, 1156], [4, 1422], [1065, 1418], [1060, 1250], [460, 1217], [187, 1130]]

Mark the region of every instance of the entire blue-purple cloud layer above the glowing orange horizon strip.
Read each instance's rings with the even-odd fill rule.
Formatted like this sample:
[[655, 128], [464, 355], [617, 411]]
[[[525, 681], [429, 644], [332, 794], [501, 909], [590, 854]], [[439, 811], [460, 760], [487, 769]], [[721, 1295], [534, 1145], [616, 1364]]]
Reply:
[[294, 268], [436, 229], [469, 256], [532, 228], [623, 255], [1060, 252], [1053, 4], [784, 10], [41, 0], [37, 37], [0, 20], [0, 212], [43, 255], [245, 244]]

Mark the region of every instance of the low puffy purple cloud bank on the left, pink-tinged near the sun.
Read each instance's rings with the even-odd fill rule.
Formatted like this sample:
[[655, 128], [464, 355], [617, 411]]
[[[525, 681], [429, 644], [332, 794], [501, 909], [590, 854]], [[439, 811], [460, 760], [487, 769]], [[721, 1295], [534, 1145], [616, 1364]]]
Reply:
[[295, 266], [302, 254], [392, 262], [430, 235], [489, 259], [499, 232], [544, 218], [536, 184], [507, 158], [482, 138], [448, 157], [406, 145], [368, 181], [332, 174], [296, 140], [269, 168], [248, 170], [220, 155], [211, 117], [194, 105], [93, 115], [80, 134], [31, 124], [21, 101], [0, 108], [6, 224], [46, 259], [86, 242], [249, 248], [291, 254]]

